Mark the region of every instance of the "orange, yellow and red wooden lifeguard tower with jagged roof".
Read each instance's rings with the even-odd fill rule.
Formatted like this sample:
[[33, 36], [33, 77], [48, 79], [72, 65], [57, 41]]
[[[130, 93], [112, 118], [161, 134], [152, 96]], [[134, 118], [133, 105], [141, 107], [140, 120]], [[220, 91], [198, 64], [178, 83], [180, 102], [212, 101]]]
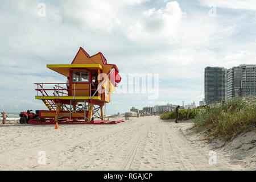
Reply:
[[[28, 123], [102, 123], [104, 106], [110, 102], [110, 94], [121, 81], [118, 68], [108, 64], [101, 52], [89, 54], [80, 47], [71, 64], [48, 64], [47, 68], [65, 77], [64, 83], [35, 83], [36, 99], [42, 100], [48, 110], [38, 110], [38, 117]], [[96, 118], [98, 120], [96, 120]]]

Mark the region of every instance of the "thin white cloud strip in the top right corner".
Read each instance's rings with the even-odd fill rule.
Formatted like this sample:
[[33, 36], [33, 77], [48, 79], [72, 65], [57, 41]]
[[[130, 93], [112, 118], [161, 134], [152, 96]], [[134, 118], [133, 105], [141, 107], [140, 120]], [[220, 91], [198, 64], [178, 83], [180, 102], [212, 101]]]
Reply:
[[216, 5], [217, 7], [237, 9], [237, 10], [256, 10], [255, 0], [201, 0], [206, 5]]

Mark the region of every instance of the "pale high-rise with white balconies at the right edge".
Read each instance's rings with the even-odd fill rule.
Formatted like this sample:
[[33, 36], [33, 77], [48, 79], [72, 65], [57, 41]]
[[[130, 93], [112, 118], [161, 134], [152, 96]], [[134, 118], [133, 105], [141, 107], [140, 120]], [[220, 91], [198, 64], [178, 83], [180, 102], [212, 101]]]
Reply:
[[256, 96], [256, 65], [241, 64], [228, 69], [227, 97]]

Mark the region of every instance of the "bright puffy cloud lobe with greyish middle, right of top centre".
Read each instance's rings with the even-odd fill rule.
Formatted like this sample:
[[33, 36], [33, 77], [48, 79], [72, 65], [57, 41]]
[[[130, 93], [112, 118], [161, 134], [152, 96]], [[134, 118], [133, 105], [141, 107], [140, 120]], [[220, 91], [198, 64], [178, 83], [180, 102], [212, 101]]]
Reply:
[[144, 11], [141, 20], [137, 20], [128, 29], [131, 40], [166, 40], [168, 43], [179, 39], [179, 25], [183, 16], [179, 3], [168, 2], [166, 7]]

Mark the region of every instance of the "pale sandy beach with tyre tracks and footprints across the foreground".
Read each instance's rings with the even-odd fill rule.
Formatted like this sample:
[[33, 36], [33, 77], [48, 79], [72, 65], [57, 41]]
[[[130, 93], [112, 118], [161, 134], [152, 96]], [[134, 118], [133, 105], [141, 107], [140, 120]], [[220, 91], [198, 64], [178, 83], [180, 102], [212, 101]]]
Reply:
[[[117, 125], [59, 125], [59, 130], [53, 125], [0, 125], [0, 170], [256, 169], [254, 142], [246, 144], [247, 153], [238, 147], [246, 156], [236, 159], [240, 151], [213, 150], [214, 143], [187, 135], [192, 125], [191, 120], [175, 123], [159, 117], [130, 118]], [[256, 136], [253, 132], [248, 139]], [[217, 164], [211, 165], [212, 150]], [[46, 164], [38, 164], [39, 151], [45, 152]]]

